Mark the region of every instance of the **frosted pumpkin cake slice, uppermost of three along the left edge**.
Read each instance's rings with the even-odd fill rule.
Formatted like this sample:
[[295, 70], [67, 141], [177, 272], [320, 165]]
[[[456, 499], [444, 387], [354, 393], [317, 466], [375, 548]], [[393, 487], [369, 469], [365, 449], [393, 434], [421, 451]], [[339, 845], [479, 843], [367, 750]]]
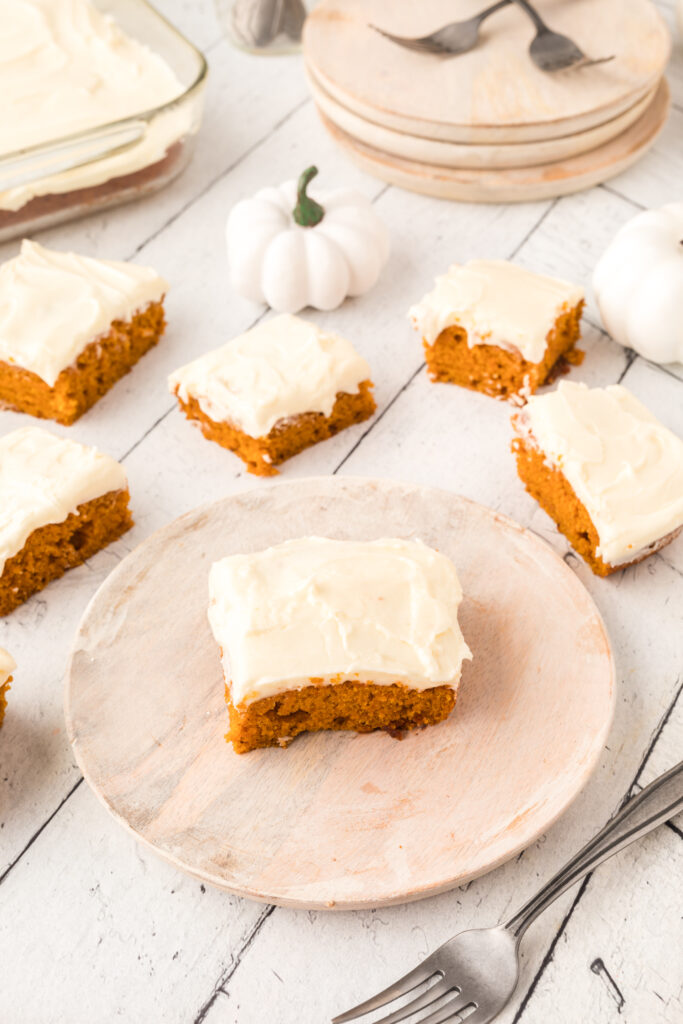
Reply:
[[0, 403], [73, 423], [157, 344], [166, 290], [150, 267], [25, 241], [0, 267]]

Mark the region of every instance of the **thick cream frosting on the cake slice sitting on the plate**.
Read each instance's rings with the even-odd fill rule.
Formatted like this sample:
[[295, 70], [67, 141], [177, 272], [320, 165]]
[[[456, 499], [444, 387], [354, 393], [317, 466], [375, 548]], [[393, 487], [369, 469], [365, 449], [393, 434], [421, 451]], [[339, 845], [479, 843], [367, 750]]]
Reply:
[[214, 562], [208, 613], [237, 706], [312, 681], [455, 689], [472, 656], [462, 597], [419, 541], [311, 537]]

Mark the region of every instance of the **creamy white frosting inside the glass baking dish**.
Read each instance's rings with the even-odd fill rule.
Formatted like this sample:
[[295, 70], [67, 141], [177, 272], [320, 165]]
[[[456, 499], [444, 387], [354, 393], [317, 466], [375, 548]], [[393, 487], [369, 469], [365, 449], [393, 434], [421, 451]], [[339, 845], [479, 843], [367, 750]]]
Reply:
[[[183, 91], [162, 57], [89, 0], [0, 3], [0, 155], [153, 110]], [[115, 156], [3, 187], [0, 209], [17, 210], [34, 196], [98, 184], [156, 163], [190, 121], [187, 109], [165, 112]]]

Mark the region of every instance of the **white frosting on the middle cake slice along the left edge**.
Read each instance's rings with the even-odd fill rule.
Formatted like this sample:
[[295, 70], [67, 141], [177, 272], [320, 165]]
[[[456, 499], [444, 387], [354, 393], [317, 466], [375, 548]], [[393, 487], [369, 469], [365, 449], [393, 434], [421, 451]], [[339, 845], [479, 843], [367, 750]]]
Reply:
[[0, 437], [0, 572], [29, 535], [78, 505], [127, 486], [123, 466], [94, 447], [23, 427]]

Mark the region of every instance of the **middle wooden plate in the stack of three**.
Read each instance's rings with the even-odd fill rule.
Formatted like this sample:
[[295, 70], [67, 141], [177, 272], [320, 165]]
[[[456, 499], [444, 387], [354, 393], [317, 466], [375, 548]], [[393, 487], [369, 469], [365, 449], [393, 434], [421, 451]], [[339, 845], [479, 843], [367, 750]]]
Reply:
[[630, 128], [645, 113], [656, 92], [656, 89], [652, 89], [624, 114], [587, 131], [538, 142], [480, 145], [443, 142], [383, 128], [381, 125], [366, 121], [365, 118], [358, 117], [333, 99], [316, 81], [313, 72], [307, 70], [306, 78], [317, 109], [329, 121], [359, 142], [407, 160], [442, 167], [468, 167], [480, 170], [536, 167], [539, 164], [555, 163], [595, 150]]

